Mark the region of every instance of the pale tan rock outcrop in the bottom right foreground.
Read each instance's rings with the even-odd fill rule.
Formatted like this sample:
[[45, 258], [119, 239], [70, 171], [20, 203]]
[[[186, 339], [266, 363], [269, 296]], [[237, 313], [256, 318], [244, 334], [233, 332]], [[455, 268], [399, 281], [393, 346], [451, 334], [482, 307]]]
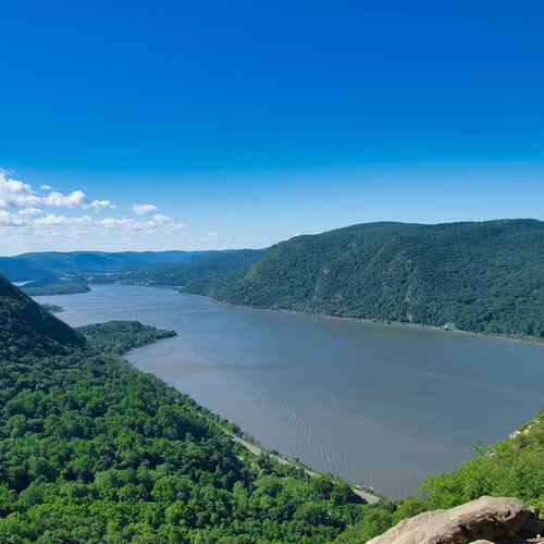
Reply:
[[449, 510], [428, 511], [405, 519], [369, 544], [496, 542], [542, 532], [544, 521], [534, 508], [517, 498], [484, 496]]

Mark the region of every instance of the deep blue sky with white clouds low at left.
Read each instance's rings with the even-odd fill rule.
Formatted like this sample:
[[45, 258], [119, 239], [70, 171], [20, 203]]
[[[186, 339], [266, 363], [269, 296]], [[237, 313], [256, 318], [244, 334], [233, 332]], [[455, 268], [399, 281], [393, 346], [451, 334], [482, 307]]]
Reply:
[[11, 2], [0, 51], [0, 255], [544, 219], [540, 1]]

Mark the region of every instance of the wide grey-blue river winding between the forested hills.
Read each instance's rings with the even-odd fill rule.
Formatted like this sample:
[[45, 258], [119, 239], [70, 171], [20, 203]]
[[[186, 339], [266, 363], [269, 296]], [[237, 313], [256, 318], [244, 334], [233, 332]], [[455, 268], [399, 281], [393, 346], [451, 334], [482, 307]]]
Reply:
[[505, 437], [544, 404], [544, 347], [429, 329], [227, 308], [138, 286], [36, 297], [71, 325], [178, 333], [127, 359], [269, 449], [390, 498]]

